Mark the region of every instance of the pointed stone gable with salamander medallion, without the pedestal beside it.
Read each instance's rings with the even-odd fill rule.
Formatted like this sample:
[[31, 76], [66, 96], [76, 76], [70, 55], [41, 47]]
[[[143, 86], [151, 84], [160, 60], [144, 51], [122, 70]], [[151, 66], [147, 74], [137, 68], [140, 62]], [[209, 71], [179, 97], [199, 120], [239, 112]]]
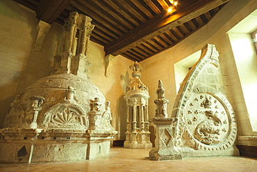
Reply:
[[215, 45], [206, 45], [176, 97], [172, 117], [185, 123], [178, 145], [184, 157], [238, 155], [235, 116], [224, 95], [218, 56]]

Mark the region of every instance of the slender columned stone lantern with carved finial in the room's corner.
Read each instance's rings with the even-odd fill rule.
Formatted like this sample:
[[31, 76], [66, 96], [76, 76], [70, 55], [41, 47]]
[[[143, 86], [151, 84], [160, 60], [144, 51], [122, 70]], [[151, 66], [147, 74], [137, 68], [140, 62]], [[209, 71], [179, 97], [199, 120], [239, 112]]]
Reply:
[[126, 114], [126, 141], [124, 148], [151, 148], [148, 116], [148, 88], [140, 80], [142, 68], [135, 61], [129, 67], [133, 70], [133, 79], [126, 86], [127, 114]]

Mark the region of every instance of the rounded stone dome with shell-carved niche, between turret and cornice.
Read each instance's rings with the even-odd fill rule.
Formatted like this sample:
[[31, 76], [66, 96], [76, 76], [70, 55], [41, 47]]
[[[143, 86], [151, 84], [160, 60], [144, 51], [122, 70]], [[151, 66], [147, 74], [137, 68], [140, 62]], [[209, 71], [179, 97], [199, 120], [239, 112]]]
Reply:
[[[35, 81], [17, 95], [6, 116], [4, 127], [28, 127], [32, 123], [34, 111], [31, 97], [43, 99], [42, 109], [38, 111], [38, 128], [69, 128], [74, 125], [80, 125], [79, 128], [87, 128], [88, 116], [86, 114], [90, 111], [90, 100], [97, 97], [99, 104], [106, 102], [99, 88], [88, 79], [73, 74], [51, 75]], [[63, 112], [65, 108], [67, 112]], [[13, 113], [13, 111], [17, 113]], [[104, 106], [100, 106], [99, 112], [103, 113], [103, 111], [105, 111]], [[54, 116], [55, 114], [58, 115], [48, 119], [48, 115]], [[77, 116], [72, 114], [77, 114]], [[84, 121], [75, 119], [82, 116], [84, 116]], [[8, 120], [9, 118], [16, 120]], [[49, 123], [54, 123], [54, 125]]]

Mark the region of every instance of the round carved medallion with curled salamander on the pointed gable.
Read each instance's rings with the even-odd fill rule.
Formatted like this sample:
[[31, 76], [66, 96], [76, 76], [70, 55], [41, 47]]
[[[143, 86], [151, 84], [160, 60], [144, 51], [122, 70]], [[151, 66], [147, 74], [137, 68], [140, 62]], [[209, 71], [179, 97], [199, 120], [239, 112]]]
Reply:
[[190, 96], [185, 105], [185, 123], [197, 149], [224, 150], [235, 141], [235, 117], [224, 96], [220, 99], [208, 93]]

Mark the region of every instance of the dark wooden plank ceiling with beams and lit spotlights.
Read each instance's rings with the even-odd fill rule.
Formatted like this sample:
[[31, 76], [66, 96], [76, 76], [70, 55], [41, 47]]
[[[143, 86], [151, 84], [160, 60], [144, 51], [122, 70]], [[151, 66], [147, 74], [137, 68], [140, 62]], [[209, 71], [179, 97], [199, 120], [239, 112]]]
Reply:
[[[90, 40], [106, 55], [143, 61], [168, 49], [207, 24], [229, 0], [15, 0], [37, 18], [64, 23], [69, 13], [88, 15]], [[174, 2], [177, 3], [175, 6]], [[172, 7], [172, 12], [168, 8]]]

